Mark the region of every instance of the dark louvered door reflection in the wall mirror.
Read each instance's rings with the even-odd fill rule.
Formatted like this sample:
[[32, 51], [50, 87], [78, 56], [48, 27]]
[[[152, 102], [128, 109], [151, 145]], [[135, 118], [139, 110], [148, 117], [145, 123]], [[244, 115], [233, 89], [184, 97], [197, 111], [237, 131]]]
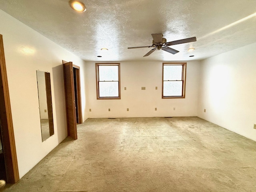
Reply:
[[45, 75], [45, 85], [46, 85], [46, 100], [47, 100], [47, 110], [49, 119], [49, 132], [50, 136], [54, 134], [53, 128], [53, 114], [52, 114], [52, 91], [51, 91], [51, 78], [50, 73], [44, 72]]

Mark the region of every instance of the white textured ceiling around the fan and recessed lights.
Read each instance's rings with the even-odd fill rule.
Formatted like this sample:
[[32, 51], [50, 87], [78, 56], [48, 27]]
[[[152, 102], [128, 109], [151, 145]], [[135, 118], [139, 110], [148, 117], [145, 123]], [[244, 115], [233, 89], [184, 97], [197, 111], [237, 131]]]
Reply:
[[[68, 1], [0, 0], [0, 8], [86, 61], [202, 60], [256, 42], [256, 0], [81, 0], [82, 13]], [[170, 46], [175, 55], [127, 49], [150, 46], [152, 33], [197, 41]]]

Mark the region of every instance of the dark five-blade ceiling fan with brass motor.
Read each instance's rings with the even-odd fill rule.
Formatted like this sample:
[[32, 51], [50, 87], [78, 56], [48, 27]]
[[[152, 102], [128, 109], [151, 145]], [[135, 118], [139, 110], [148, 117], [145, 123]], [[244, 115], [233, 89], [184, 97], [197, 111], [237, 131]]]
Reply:
[[175, 49], [172, 49], [170, 47], [167, 47], [167, 46], [177, 45], [177, 44], [182, 44], [182, 43], [189, 43], [189, 42], [196, 41], [196, 37], [190, 37], [190, 38], [186, 38], [186, 39], [166, 42], [166, 38], [163, 38], [163, 34], [158, 33], [158, 34], [151, 34], [151, 35], [153, 37], [152, 45], [150, 45], [150, 46], [140, 46], [140, 47], [128, 47], [128, 49], [154, 47], [154, 49], [150, 50], [146, 55], [144, 55], [144, 57], [149, 56], [155, 50], [160, 50], [160, 49], [162, 49], [164, 51], [167, 51], [167, 52], [169, 52], [171, 54], [176, 54], [179, 51], [177, 51]]

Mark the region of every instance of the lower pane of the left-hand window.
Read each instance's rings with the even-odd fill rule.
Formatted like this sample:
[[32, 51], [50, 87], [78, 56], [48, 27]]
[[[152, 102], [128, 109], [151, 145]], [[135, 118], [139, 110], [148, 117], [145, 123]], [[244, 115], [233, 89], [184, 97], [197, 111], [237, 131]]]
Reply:
[[100, 97], [118, 97], [118, 82], [99, 82]]

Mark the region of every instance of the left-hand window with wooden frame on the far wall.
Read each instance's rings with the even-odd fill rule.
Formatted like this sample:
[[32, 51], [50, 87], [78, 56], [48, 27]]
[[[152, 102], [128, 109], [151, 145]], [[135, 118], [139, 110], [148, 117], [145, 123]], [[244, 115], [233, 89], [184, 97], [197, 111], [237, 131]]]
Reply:
[[120, 63], [96, 63], [97, 99], [120, 99]]

